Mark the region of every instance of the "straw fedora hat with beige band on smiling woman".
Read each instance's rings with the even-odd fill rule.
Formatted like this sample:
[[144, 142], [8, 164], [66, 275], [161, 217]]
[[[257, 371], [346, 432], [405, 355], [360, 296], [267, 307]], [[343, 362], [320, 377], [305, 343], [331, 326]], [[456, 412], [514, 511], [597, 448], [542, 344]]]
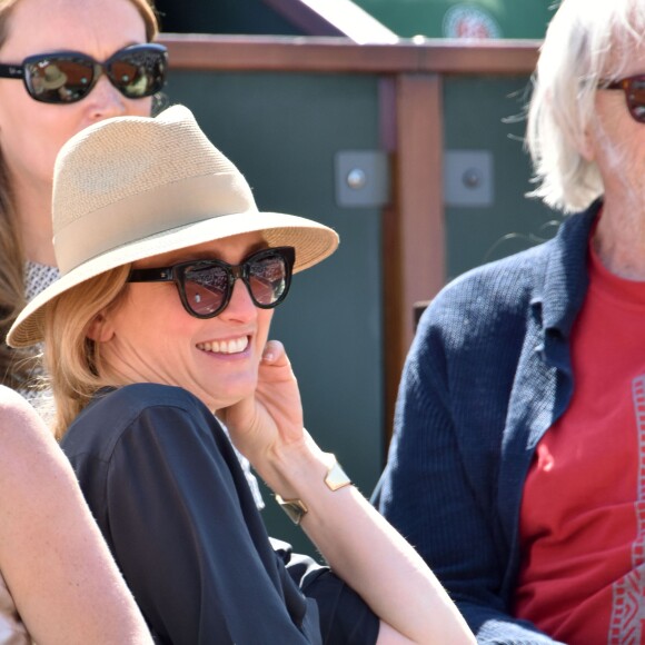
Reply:
[[296, 249], [294, 271], [338, 246], [316, 221], [260, 212], [241, 172], [206, 137], [183, 106], [158, 117], [117, 117], [75, 135], [53, 173], [53, 246], [61, 277], [33, 298], [7, 343], [43, 338], [49, 306], [109, 269], [244, 232]]

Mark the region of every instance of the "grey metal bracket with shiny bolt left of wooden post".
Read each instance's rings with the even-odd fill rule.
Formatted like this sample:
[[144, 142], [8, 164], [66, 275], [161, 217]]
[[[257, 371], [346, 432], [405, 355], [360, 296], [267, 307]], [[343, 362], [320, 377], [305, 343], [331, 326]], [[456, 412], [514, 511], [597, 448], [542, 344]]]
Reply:
[[344, 150], [334, 158], [336, 202], [340, 207], [381, 207], [389, 201], [389, 162], [380, 150]]

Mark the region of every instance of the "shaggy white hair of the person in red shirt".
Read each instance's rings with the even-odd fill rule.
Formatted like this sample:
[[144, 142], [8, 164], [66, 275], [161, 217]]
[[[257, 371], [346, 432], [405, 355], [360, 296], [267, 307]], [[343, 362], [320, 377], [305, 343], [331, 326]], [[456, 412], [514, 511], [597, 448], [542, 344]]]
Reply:
[[596, 163], [582, 153], [596, 90], [624, 76], [644, 34], [641, 0], [562, 1], [540, 48], [528, 106], [526, 145], [537, 183], [532, 197], [573, 212], [604, 192]]

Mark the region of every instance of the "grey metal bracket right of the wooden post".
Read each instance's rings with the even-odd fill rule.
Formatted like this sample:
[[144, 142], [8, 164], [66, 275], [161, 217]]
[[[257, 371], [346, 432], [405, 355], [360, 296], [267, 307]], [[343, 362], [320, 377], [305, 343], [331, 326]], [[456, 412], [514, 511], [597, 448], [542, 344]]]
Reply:
[[444, 202], [446, 206], [492, 206], [493, 153], [489, 150], [446, 150]]

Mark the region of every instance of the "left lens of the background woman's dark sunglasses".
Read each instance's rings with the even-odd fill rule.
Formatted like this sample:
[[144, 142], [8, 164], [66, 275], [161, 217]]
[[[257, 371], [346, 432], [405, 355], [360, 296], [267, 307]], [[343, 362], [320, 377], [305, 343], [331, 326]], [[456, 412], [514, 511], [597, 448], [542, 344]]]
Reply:
[[49, 56], [24, 61], [24, 82], [29, 93], [46, 103], [72, 103], [91, 90], [92, 61], [81, 57]]

